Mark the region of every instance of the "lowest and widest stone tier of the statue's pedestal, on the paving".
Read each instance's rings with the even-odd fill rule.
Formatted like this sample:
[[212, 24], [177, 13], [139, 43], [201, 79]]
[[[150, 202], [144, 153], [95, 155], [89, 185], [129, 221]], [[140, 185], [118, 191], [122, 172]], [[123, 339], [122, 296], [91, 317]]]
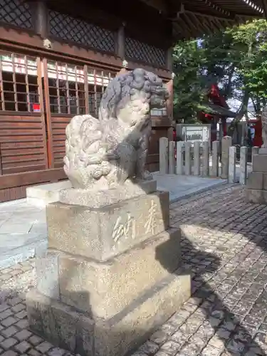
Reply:
[[144, 342], [190, 297], [190, 277], [171, 274], [144, 290], [108, 320], [88, 314], [31, 290], [26, 296], [31, 330], [58, 347], [81, 356], [124, 356]]

